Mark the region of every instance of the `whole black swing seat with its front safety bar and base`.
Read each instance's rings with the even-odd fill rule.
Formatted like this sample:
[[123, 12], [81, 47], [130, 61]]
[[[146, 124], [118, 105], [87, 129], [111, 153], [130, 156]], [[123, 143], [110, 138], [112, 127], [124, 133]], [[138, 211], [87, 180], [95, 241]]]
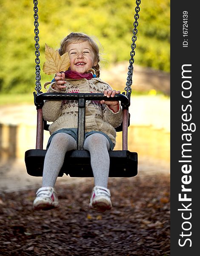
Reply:
[[[59, 177], [65, 173], [70, 177], [93, 177], [90, 164], [89, 151], [83, 149], [85, 129], [85, 105], [87, 100], [108, 100], [103, 93], [34, 93], [34, 102], [37, 105], [37, 137], [36, 149], [25, 152], [27, 173], [31, 176], [42, 176], [46, 151], [43, 148], [43, 129], [48, 130], [42, 119], [42, 105], [44, 100], [77, 100], [78, 101], [78, 141], [77, 150], [66, 152], [64, 163], [60, 169]], [[117, 94], [112, 99], [119, 100], [123, 108], [129, 104], [129, 99], [124, 94]], [[40, 116], [38, 115], [40, 113]], [[39, 117], [38, 117], [39, 116]], [[126, 124], [125, 124], [126, 123]], [[128, 127], [128, 117], [124, 119], [122, 126]], [[40, 126], [40, 127], [39, 127]], [[123, 131], [121, 128], [116, 131]], [[41, 135], [42, 134], [42, 135]], [[37, 145], [39, 144], [39, 146]], [[126, 146], [127, 149], [127, 146]], [[134, 177], [137, 175], [137, 153], [128, 150], [109, 151], [110, 169], [109, 177]]]

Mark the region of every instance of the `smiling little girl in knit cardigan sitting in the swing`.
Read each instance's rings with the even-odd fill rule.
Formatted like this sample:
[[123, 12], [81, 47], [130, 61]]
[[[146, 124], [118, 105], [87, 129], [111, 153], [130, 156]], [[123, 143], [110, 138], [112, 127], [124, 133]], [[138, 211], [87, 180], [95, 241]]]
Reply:
[[[70, 33], [60, 44], [59, 54], [69, 53], [70, 67], [63, 73], [56, 73], [49, 87], [49, 93], [104, 93], [113, 97], [120, 91], [112, 90], [109, 84], [99, 79], [99, 47], [88, 35]], [[47, 144], [44, 160], [42, 187], [37, 190], [35, 210], [59, 207], [54, 185], [63, 166], [66, 151], [77, 149], [77, 101], [44, 102], [43, 118], [52, 122], [51, 137]], [[122, 122], [122, 110], [117, 101], [86, 102], [84, 149], [90, 152], [94, 188], [89, 208], [100, 212], [111, 209], [109, 177], [109, 153], [115, 145], [114, 128]]]

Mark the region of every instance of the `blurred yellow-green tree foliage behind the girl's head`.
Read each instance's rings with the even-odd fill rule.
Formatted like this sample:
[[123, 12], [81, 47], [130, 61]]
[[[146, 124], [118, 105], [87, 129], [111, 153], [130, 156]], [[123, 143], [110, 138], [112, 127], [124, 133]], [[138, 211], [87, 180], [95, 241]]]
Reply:
[[[41, 67], [45, 43], [59, 48], [70, 32], [94, 35], [103, 45], [102, 61], [129, 60], [135, 1], [39, 0]], [[135, 63], [169, 72], [169, 0], [142, 0]], [[30, 0], [0, 2], [0, 92], [30, 92], [34, 88], [34, 18]], [[41, 71], [43, 84], [51, 80]]]

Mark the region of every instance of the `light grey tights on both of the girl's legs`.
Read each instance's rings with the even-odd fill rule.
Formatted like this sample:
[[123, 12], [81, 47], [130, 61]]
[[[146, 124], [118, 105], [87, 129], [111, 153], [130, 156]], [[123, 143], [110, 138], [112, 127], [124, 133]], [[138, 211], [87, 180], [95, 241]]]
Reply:
[[[54, 135], [44, 160], [42, 186], [55, 186], [66, 152], [76, 148], [76, 140], [71, 135]], [[94, 185], [107, 188], [110, 166], [109, 141], [103, 134], [91, 134], [85, 140], [84, 149], [90, 152]]]

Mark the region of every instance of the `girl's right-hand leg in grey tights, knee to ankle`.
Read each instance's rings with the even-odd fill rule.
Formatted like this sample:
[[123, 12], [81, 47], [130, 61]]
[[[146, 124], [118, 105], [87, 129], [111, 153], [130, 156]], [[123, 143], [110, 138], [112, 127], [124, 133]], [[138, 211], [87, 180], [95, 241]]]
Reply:
[[84, 148], [90, 152], [95, 186], [103, 186], [105, 188], [108, 186], [109, 147], [109, 141], [103, 134], [91, 134], [85, 140]]

